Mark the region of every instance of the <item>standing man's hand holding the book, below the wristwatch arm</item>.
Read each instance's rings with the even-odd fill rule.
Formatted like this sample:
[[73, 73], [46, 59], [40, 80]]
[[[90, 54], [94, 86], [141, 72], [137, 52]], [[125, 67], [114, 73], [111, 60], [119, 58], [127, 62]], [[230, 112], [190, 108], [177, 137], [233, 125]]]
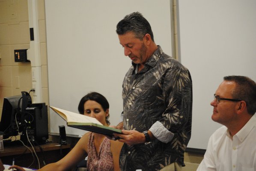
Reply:
[[123, 134], [114, 133], [115, 137], [120, 137], [119, 142], [123, 142], [128, 145], [142, 144], [146, 142], [145, 135], [135, 130], [122, 130]]

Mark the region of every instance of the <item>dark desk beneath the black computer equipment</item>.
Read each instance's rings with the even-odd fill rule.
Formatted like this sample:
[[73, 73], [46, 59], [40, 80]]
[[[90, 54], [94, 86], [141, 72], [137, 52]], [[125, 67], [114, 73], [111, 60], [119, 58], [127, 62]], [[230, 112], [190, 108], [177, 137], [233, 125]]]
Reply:
[[[42, 150], [39, 146], [34, 147], [39, 158], [41, 168], [43, 166], [43, 161], [45, 161], [46, 164], [57, 162], [70, 151], [70, 144], [60, 146], [58, 143], [46, 143], [41, 145], [41, 147]], [[31, 147], [30, 150], [33, 151]], [[4, 164], [12, 165], [12, 159], [14, 157], [15, 165], [28, 167], [33, 162], [33, 156], [30, 150], [24, 146], [4, 148], [4, 151], [0, 152], [0, 158]], [[33, 162], [33, 165], [30, 166], [30, 168], [39, 168], [36, 156], [35, 161]]]

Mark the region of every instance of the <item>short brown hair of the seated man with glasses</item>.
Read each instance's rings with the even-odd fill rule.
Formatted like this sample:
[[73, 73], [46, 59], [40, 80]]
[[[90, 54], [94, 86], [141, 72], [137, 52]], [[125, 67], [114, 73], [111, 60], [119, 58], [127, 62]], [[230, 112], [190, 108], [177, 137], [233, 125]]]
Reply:
[[235, 89], [232, 91], [234, 99], [244, 100], [247, 105], [247, 112], [254, 115], [256, 112], [256, 83], [245, 76], [226, 76], [225, 81], [235, 82]]

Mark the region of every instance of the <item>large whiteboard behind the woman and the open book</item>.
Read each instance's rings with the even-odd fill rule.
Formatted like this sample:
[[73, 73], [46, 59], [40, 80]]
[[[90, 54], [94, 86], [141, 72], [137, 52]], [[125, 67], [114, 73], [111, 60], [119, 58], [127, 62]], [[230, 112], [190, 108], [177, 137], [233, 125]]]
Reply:
[[[45, 0], [50, 106], [78, 112], [81, 97], [97, 91], [110, 103], [110, 124], [120, 122], [122, 80], [131, 60], [124, 56], [116, 24], [136, 11], [151, 24], [156, 44], [172, 56], [170, 0]], [[50, 110], [51, 134], [59, 133], [59, 125], [66, 126]]]

